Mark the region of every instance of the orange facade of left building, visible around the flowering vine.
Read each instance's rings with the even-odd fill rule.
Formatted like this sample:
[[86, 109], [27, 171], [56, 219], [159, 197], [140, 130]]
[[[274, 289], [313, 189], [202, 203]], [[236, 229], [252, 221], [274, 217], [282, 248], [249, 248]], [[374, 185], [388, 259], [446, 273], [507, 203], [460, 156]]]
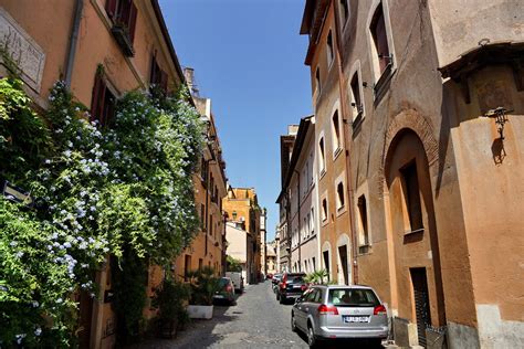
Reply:
[[[60, 19], [60, 20], [57, 20]], [[46, 109], [50, 88], [65, 81], [75, 98], [90, 107], [99, 121], [111, 118], [112, 106], [128, 91], [155, 84], [166, 92], [186, 84], [157, 0], [6, 0], [0, 4], [0, 43], [19, 65], [28, 95], [36, 109]], [[0, 65], [1, 75], [6, 67]], [[206, 204], [208, 220], [191, 247], [191, 268], [223, 267], [221, 198], [226, 194], [224, 162], [210, 113], [210, 101], [193, 96], [206, 118], [208, 139], [206, 176], [195, 174], [196, 203]], [[206, 237], [203, 237], [206, 236]], [[187, 255], [187, 251], [186, 251]], [[185, 255], [175, 263], [184, 275]], [[180, 266], [181, 264], [181, 266]], [[80, 296], [78, 339], [82, 348], [112, 348], [116, 342], [116, 315], [112, 309], [111, 263], [96, 275], [99, 295]], [[147, 296], [161, 282], [164, 272], [150, 266]], [[156, 313], [144, 309], [146, 319]]]

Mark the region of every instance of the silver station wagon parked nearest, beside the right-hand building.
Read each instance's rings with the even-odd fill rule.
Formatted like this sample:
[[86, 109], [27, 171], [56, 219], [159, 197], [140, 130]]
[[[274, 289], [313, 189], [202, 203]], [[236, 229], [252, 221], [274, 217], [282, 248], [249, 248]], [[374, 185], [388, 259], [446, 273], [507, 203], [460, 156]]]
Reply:
[[291, 329], [318, 339], [367, 338], [379, 347], [388, 336], [386, 307], [371, 287], [315, 285], [293, 305]]

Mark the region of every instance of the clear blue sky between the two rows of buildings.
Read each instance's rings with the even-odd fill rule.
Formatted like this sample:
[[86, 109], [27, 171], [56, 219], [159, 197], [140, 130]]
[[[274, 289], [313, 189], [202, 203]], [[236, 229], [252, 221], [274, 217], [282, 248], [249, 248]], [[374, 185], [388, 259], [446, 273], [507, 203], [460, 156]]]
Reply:
[[232, 187], [254, 187], [279, 218], [280, 135], [312, 112], [304, 0], [160, 0], [182, 66], [212, 110]]

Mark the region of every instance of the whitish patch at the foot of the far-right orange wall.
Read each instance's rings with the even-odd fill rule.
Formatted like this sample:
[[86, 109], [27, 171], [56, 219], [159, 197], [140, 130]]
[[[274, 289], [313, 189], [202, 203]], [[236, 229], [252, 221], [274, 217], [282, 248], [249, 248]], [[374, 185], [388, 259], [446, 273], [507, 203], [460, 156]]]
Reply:
[[524, 322], [505, 321], [496, 305], [476, 305], [481, 348], [524, 348]]

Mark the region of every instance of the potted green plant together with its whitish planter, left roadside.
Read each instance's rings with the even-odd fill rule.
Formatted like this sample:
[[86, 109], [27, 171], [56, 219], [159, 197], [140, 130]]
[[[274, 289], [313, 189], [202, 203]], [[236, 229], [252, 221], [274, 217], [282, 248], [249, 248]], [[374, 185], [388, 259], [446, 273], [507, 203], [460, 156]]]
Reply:
[[219, 278], [214, 269], [205, 266], [187, 274], [191, 287], [191, 297], [187, 311], [193, 319], [210, 319], [213, 316], [213, 295], [219, 289]]

